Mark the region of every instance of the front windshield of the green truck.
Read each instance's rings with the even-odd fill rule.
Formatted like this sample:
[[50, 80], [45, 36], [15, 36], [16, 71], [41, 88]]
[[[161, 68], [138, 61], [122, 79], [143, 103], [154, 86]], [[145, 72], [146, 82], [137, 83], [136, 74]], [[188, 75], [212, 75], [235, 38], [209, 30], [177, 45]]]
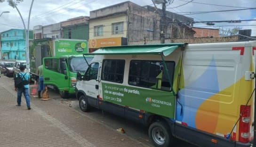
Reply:
[[[88, 63], [91, 62], [93, 57], [86, 57]], [[85, 72], [88, 65], [83, 57], [75, 57], [70, 61], [70, 71], [72, 72]]]

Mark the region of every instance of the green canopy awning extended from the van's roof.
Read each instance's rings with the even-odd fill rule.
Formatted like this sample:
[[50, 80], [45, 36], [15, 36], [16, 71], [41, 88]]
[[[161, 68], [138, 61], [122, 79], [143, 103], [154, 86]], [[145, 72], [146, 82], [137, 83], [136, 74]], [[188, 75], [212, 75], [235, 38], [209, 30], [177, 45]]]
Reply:
[[111, 46], [102, 47], [92, 53], [84, 53], [84, 55], [162, 54], [163, 56], [168, 56], [178, 47], [184, 47], [185, 45], [186, 43]]

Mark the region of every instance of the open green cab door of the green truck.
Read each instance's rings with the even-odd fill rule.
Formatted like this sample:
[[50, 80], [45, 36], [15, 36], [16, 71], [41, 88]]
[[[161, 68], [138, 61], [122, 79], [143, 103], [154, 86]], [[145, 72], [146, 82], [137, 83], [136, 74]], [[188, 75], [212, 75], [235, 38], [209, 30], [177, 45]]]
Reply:
[[56, 86], [60, 91], [68, 90], [69, 76], [68, 67], [65, 59], [44, 58], [43, 59], [43, 76], [44, 84]]

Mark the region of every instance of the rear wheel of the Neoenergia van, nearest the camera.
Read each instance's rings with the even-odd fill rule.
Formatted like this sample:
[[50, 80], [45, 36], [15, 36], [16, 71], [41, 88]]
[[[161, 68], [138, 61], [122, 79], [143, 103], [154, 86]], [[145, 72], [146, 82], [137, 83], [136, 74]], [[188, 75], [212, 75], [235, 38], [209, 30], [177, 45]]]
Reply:
[[148, 135], [155, 147], [169, 147], [173, 138], [168, 129], [168, 125], [164, 122], [154, 122], [148, 129]]

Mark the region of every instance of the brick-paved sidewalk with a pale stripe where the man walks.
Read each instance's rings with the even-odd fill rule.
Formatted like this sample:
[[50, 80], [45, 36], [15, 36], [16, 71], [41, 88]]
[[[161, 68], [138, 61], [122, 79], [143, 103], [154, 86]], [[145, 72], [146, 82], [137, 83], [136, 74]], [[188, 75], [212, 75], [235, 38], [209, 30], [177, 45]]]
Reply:
[[0, 147], [145, 147], [55, 100], [16, 106], [13, 80], [0, 78]]

